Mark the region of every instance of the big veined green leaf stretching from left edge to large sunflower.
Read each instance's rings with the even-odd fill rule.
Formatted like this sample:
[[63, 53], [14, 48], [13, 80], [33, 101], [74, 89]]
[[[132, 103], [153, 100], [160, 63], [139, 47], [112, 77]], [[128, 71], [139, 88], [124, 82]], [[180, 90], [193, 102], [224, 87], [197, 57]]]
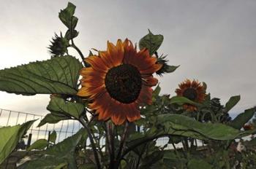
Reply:
[[72, 56], [55, 57], [0, 70], [0, 90], [23, 95], [76, 95], [82, 64]]

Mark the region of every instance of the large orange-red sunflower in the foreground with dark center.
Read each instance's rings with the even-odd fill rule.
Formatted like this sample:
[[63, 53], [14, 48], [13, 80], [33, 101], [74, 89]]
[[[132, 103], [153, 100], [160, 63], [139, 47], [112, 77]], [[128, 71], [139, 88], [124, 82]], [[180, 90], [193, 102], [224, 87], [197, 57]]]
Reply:
[[78, 95], [91, 99], [89, 108], [96, 110], [98, 119], [111, 118], [115, 125], [140, 119], [139, 106], [151, 104], [151, 87], [158, 82], [152, 76], [162, 67], [157, 58], [146, 49], [137, 52], [128, 39], [118, 39], [116, 46], [108, 42], [107, 51], [86, 62], [91, 67], [80, 71], [83, 79]]

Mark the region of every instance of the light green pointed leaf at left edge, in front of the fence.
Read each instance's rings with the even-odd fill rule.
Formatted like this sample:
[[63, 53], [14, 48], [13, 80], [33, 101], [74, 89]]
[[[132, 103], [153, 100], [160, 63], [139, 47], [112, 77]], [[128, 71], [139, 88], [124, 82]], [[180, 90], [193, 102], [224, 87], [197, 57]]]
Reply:
[[20, 138], [26, 133], [26, 130], [29, 130], [34, 121], [26, 122], [23, 125], [0, 128], [0, 164], [15, 149]]

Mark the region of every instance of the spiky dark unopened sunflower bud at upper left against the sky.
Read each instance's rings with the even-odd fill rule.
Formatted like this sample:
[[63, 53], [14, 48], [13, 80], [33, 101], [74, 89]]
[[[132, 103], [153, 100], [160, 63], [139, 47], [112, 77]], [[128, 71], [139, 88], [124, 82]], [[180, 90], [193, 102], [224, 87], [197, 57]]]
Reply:
[[67, 47], [69, 46], [69, 41], [61, 36], [55, 34], [53, 37], [53, 41], [50, 42], [50, 47], [48, 47], [50, 55], [55, 56], [63, 56], [65, 52], [67, 52]]

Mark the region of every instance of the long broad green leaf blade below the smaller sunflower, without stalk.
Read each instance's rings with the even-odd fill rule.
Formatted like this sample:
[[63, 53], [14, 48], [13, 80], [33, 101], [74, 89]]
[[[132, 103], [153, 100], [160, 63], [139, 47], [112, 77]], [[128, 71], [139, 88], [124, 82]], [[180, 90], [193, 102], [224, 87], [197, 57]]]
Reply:
[[203, 123], [180, 114], [161, 114], [157, 117], [159, 125], [164, 125], [169, 134], [189, 136], [202, 140], [233, 140], [244, 134], [221, 123]]

